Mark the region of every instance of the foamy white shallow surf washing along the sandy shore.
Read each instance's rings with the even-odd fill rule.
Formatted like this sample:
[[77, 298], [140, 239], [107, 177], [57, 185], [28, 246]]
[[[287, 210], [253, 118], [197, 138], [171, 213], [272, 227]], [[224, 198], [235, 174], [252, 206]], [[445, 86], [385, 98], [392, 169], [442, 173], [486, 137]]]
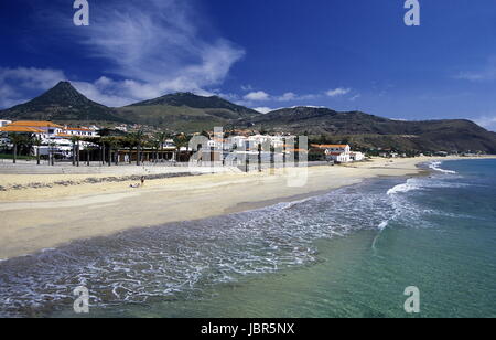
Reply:
[[[385, 194], [390, 180], [378, 182], [382, 184], [77, 241], [2, 262], [0, 300], [8, 302], [0, 305], [0, 316], [31, 315], [46, 306], [69, 309], [72, 289], [78, 286], [89, 289], [98, 308], [166, 297], [200, 299], [218, 284], [319, 262], [316, 240], [381, 232], [398, 219], [412, 227], [425, 223], [419, 216], [429, 212], [407, 196]], [[407, 190], [399, 188], [395, 192]]]

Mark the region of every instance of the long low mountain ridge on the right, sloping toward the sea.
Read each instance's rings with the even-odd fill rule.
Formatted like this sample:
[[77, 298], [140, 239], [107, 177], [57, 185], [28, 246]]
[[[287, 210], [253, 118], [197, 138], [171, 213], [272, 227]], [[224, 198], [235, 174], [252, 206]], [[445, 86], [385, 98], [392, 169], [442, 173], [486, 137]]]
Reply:
[[496, 134], [463, 119], [403, 121], [360, 111], [293, 107], [246, 119], [245, 127], [309, 135], [313, 140], [349, 142], [357, 148], [496, 153]]

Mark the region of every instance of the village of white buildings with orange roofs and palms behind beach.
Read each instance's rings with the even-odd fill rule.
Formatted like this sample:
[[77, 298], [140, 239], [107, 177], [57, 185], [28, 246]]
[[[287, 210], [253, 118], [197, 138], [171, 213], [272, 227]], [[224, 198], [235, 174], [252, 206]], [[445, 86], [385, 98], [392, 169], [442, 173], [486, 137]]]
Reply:
[[[306, 137], [268, 135], [259, 131], [185, 134], [144, 132], [127, 128], [71, 127], [52, 121], [0, 120], [0, 155], [3, 159], [32, 160], [37, 164], [137, 166], [234, 166], [249, 171], [250, 163], [303, 163], [324, 161], [341, 164], [366, 160], [347, 144], [310, 144]], [[310, 156], [310, 159], [309, 159]], [[397, 157], [397, 155], [385, 155]]]

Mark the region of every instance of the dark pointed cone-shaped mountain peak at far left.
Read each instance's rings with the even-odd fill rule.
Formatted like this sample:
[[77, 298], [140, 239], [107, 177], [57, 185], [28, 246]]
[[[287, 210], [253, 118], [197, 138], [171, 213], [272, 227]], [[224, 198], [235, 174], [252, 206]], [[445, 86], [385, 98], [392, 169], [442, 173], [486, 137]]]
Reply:
[[126, 123], [115, 110], [78, 93], [68, 82], [60, 82], [41, 96], [1, 110], [0, 118], [12, 120], [52, 120], [57, 123]]

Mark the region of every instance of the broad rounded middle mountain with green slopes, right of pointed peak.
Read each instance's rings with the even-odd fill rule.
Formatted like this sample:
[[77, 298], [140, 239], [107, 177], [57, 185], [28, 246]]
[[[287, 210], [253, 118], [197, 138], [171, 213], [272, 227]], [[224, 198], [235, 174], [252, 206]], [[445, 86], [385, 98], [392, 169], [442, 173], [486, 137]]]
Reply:
[[227, 127], [260, 116], [256, 110], [218, 96], [203, 97], [192, 93], [170, 94], [121, 107], [117, 111], [122, 119], [184, 132]]

